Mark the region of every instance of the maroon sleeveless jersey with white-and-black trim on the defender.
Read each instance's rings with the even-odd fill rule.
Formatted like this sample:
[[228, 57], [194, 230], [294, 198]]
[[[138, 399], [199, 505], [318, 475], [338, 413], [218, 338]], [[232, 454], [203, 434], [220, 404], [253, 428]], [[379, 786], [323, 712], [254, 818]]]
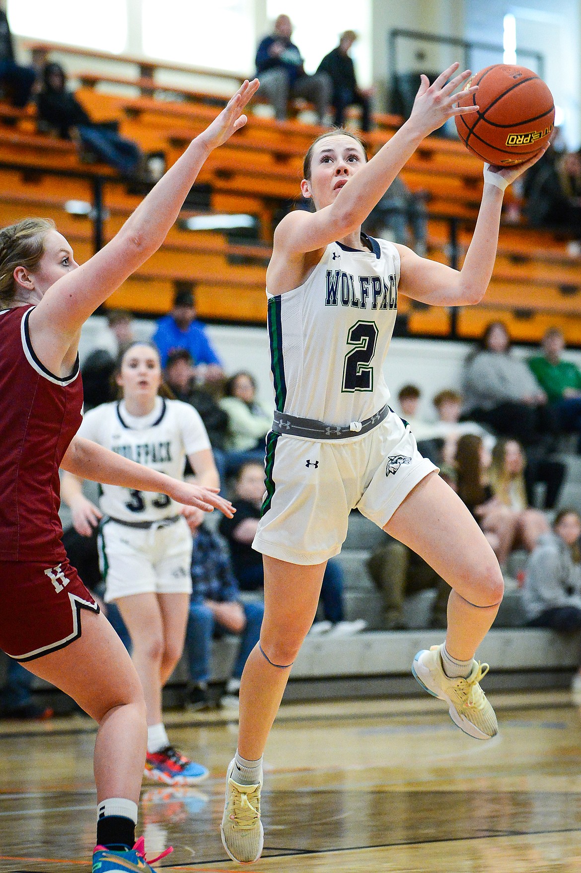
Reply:
[[79, 359], [60, 379], [38, 361], [32, 306], [0, 312], [0, 560], [65, 560], [58, 467], [82, 419]]

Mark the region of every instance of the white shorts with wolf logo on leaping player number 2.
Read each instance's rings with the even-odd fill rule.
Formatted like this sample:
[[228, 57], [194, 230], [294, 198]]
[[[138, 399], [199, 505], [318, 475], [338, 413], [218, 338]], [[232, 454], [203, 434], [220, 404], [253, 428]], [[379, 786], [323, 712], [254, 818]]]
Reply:
[[391, 410], [364, 436], [315, 441], [270, 432], [266, 494], [253, 548], [291, 564], [319, 564], [341, 551], [349, 512], [384, 527], [428, 473], [409, 425]]

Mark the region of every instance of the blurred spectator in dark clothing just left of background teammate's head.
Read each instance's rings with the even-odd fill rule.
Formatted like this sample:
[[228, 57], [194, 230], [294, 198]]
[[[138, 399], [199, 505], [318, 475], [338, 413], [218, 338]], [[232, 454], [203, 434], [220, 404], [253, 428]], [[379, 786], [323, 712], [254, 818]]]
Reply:
[[113, 373], [117, 359], [135, 339], [133, 316], [126, 310], [110, 310], [107, 313], [107, 325], [108, 331], [101, 337], [99, 346], [87, 354], [81, 366], [86, 410], [115, 400], [117, 390], [113, 384]]

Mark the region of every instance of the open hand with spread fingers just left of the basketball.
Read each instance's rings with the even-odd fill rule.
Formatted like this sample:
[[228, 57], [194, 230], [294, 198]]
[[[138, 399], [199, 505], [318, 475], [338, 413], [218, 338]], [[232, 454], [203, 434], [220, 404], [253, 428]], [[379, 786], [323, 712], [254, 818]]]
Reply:
[[[474, 112], [478, 107], [459, 107], [458, 94], [455, 90], [461, 86], [467, 79], [470, 78], [470, 70], [458, 73], [453, 79], [453, 76], [460, 64], [456, 62], [452, 66], [448, 66], [448, 70], [441, 72], [437, 79], [430, 85], [429, 79], [423, 73], [420, 76], [421, 84], [418, 93], [415, 95], [414, 108], [409, 120], [419, 124], [422, 128], [422, 133], [427, 136], [432, 131], [441, 127], [448, 118], [455, 115], [461, 115], [468, 112]], [[448, 79], [450, 79], [448, 81]], [[447, 84], [448, 83], [448, 84]], [[475, 94], [478, 86], [473, 86], [462, 91], [463, 97], [469, 94]]]

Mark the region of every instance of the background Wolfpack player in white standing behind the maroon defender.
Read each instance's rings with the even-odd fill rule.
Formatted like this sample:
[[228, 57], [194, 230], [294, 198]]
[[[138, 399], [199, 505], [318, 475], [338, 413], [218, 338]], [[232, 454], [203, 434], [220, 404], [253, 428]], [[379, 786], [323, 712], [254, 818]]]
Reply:
[[[158, 394], [162, 382], [157, 349], [140, 342], [130, 346], [121, 357], [117, 382], [122, 400], [87, 412], [79, 435], [173, 478], [183, 478], [188, 457], [199, 485], [219, 487], [202, 419], [188, 403]], [[181, 658], [192, 590], [190, 526], [194, 530], [200, 524], [203, 512], [165, 494], [119, 485], [101, 486], [98, 509], [84, 497], [82, 483], [65, 473], [62, 496], [79, 533], [89, 535], [101, 519], [105, 600], [120, 609], [145, 692], [145, 775], [167, 784], [195, 784], [208, 770], [170, 744], [161, 717], [161, 690]]]

